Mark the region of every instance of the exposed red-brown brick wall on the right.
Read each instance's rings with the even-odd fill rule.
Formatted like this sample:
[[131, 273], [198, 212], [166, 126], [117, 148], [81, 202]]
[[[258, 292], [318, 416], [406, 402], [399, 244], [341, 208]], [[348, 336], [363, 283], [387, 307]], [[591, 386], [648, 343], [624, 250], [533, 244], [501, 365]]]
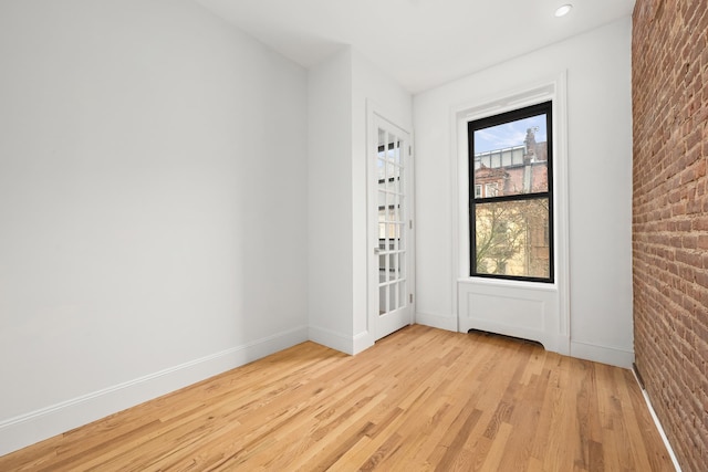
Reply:
[[636, 364], [683, 470], [705, 472], [708, 0], [636, 0], [633, 19]]

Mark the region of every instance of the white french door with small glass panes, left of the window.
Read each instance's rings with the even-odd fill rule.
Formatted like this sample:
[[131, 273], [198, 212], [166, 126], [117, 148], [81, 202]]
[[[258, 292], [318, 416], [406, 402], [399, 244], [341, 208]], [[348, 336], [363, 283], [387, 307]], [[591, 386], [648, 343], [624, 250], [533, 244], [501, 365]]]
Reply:
[[413, 156], [408, 133], [369, 117], [368, 319], [381, 339], [413, 323]]

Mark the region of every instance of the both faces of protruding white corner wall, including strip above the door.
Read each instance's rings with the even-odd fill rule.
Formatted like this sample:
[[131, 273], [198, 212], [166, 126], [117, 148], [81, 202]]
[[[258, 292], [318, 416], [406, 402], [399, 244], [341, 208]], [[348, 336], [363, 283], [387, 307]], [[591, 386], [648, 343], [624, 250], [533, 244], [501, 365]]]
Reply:
[[366, 313], [367, 104], [410, 130], [413, 99], [351, 46], [309, 71], [310, 337], [373, 345]]

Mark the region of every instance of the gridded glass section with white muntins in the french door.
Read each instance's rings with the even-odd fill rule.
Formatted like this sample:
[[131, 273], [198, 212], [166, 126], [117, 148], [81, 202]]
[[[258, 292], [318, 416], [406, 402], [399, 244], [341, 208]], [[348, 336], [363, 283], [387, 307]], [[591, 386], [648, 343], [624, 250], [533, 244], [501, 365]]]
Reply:
[[406, 169], [403, 138], [378, 128], [378, 314], [407, 306]]

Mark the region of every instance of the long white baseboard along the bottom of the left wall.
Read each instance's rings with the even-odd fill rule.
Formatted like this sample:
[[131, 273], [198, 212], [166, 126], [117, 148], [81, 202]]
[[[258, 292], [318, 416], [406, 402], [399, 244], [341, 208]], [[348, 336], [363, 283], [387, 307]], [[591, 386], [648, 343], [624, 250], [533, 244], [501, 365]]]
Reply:
[[0, 455], [196, 384], [308, 340], [305, 326], [278, 333], [82, 397], [0, 421]]

